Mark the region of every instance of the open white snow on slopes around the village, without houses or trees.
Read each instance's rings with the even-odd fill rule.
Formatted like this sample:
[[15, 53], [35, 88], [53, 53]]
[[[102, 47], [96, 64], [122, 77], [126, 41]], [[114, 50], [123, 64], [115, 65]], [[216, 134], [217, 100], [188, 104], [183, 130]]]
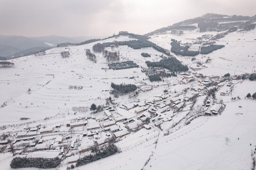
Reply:
[[[199, 33], [194, 31], [184, 31], [185, 34], [173, 35], [170, 32], [156, 34], [150, 37], [150, 41], [170, 50], [170, 40], [174, 38], [182, 43], [196, 42], [196, 38], [209, 34], [209, 37], [218, 34], [217, 32]], [[210, 54], [199, 54], [195, 61], [192, 57], [177, 56], [177, 59], [188, 66], [202, 62], [206, 67], [200, 68], [196, 73], [204, 76], [223, 76], [226, 73], [240, 75], [243, 73], [253, 73], [256, 70], [256, 30], [248, 32], [235, 32], [219, 39], [217, 44], [224, 44], [225, 47]], [[135, 40], [128, 36], [110, 38], [102, 42], [129, 41]], [[103, 118], [104, 113], [91, 114], [91, 112], [76, 112], [72, 107], [88, 107], [105, 105], [106, 98], [110, 95], [111, 82], [115, 84], [135, 84], [141, 89], [153, 88], [150, 91], [139, 93], [136, 97], [127, 95], [115, 98], [118, 106], [130, 102], [144, 102], [152, 100], [156, 96], [168, 91], [169, 98], [194, 95], [191, 87], [197, 85], [201, 79], [194, 77], [189, 82], [182, 75], [177, 77], [164, 78], [163, 81], [150, 82], [148, 77], [141, 72], [141, 68], [147, 68], [145, 61], [159, 61], [162, 54], [153, 48], [142, 48], [134, 50], [128, 46], [119, 46], [115, 51], [120, 52], [120, 61], [132, 60], [138, 64], [139, 68], [129, 68], [112, 70], [108, 69], [106, 59], [102, 53], [95, 53], [97, 63], [88, 60], [85, 49], [92, 50], [97, 42], [81, 46], [70, 46], [66, 48], [53, 48], [46, 51], [44, 56], [26, 56], [12, 59], [14, 68], [0, 69], [0, 103], [6, 102], [7, 106], [0, 108], [0, 126], [8, 126], [1, 130], [1, 133], [12, 131], [16, 133], [27, 127], [55, 126], [62, 125], [61, 132], [71, 131], [66, 127], [67, 123], [74, 119], [91, 116]], [[199, 50], [200, 45], [191, 47]], [[112, 51], [111, 48], [106, 48]], [[62, 58], [60, 52], [70, 51], [69, 58]], [[141, 52], [147, 52], [151, 57], [144, 58]], [[212, 59], [209, 63], [204, 63], [207, 58]], [[192, 71], [190, 69], [189, 71]], [[194, 72], [195, 74], [195, 72]], [[193, 75], [194, 76], [194, 75]], [[208, 79], [208, 77], [206, 78]], [[183, 80], [183, 81], [181, 81]], [[199, 81], [200, 80], [200, 81]], [[213, 81], [213, 80], [212, 80]], [[200, 116], [189, 124], [185, 124], [183, 119], [191, 111], [192, 102], [184, 102], [186, 105], [181, 112], [173, 113], [171, 121], [165, 121], [160, 128], [154, 126], [150, 119], [151, 129], [141, 128], [131, 131], [130, 134], [117, 139], [116, 146], [121, 153], [107, 158], [88, 163], [76, 168], [77, 170], [247, 170], [250, 169], [252, 159], [251, 152], [256, 147], [256, 102], [246, 99], [247, 93], [256, 92], [256, 81], [239, 80], [233, 85], [232, 93], [221, 96], [221, 92], [230, 91], [224, 81], [219, 84], [216, 92], [216, 101], [221, 100], [225, 104], [225, 110], [218, 116]], [[69, 89], [70, 85], [81, 85], [81, 90]], [[210, 87], [211, 88], [211, 87]], [[30, 90], [29, 90], [30, 89]], [[196, 92], [198, 94], [199, 92]], [[231, 97], [239, 96], [240, 100], [231, 101]], [[113, 97], [113, 95], [112, 95]], [[195, 105], [203, 105], [206, 94], [200, 92]], [[114, 97], [113, 97], [114, 98]], [[168, 100], [169, 100], [168, 98]], [[155, 102], [154, 107], [160, 102]], [[177, 106], [177, 105], [176, 105]], [[241, 107], [238, 107], [241, 106]], [[153, 106], [149, 106], [153, 107]], [[193, 107], [192, 107], [193, 108]], [[124, 116], [128, 119], [136, 117], [135, 107], [131, 110], [115, 108], [114, 118]], [[202, 111], [202, 110], [200, 110]], [[169, 115], [168, 115], [169, 116]], [[20, 120], [20, 118], [30, 118]], [[96, 119], [89, 119], [89, 123], [97, 123]], [[100, 122], [101, 123], [101, 122]], [[174, 124], [177, 123], [177, 126]], [[117, 122], [121, 129], [126, 129], [124, 124]], [[166, 134], [171, 127], [171, 133]], [[83, 132], [83, 127], [76, 127], [75, 131]], [[99, 133], [100, 137], [106, 136], [105, 132]], [[72, 132], [71, 132], [72, 135]], [[93, 142], [93, 137], [76, 136], [78, 143], [88, 144]], [[229, 138], [226, 143], [225, 138]], [[238, 140], [239, 137], [239, 140]], [[54, 136], [43, 136], [47, 144], [52, 142]], [[54, 141], [53, 141], [54, 142]], [[250, 144], [252, 144], [250, 146]], [[74, 151], [76, 153], [78, 151]], [[82, 154], [84, 155], [84, 154]], [[10, 153], [0, 154], [0, 165], [3, 170], [10, 170], [9, 163], [12, 160]], [[67, 159], [62, 161], [57, 170], [66, 170]], [[29, 170], [34, 170], [29, 168]], [[38, 169], [35, 169], [38, 170]]]

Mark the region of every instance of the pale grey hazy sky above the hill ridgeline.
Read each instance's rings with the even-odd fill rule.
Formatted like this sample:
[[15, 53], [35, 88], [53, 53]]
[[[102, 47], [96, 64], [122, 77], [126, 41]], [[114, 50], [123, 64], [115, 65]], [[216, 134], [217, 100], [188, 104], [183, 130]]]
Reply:
[[205, 13], [256, 14], [256, 0], [0, 0], [0, 34], [146, 34]]

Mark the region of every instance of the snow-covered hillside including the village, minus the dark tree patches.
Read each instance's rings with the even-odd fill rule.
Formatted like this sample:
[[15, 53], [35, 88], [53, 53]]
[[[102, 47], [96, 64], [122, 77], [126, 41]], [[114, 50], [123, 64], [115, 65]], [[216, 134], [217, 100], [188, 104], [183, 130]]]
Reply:
[[[148, 40], [170, 51], [171, 39], [176, 39], [190, 44], [189, 50], [200, 51], [202, 44], [194, 42], [199, 37], [212, 42], [216, 34], [219, 32], [200, 33], [198, 29], [179, 35], [167, 31]], [[103, 145], [113, 137], [119, 153], [78, 169], [250, 169], [251, 154], [256, 149], [256, 101], [246, 96], [256, 93], [256, 81], [241, 76], [256, 70], [256, 29], [229, 33], [215, 42], [225, 47], [195, 57], [172, 52], [168, 56], [153, 47], [105, 48], [118, 51], [120, 62], [131, 60], [139, 65], [136, 68], [109, 69], [103, 54], [93, 51], [97, 43], [131, 40], [137, 39], [118, 35], [85, 45], [53, 48], [42, 56], [9, 60], [13, 68], [0, 68], [1, 168], [11, 169], [11, 144], [17, 149], [15, 157], [39, 151], [48, 156], [58, 154], [62, 162], [56, 169], [66, 170], [93, 153], [86, 146]], [[96, 55], [96, 63], [87, 59], [86, 49]], [[62, 51], [69, 51], [70, 57], [62, 58]], [[142, 52], [151, 57], [142, 57]], [[145, 62], [169, 57], [187, 65], [188, 71], [150, 82], [142, 72], [148, 68]], [[222, 77], [226, 73], [231, 76]], [[110, 93], [112, 82], [134, 84], [139, 90], [115, 98]], [[104, 110], [90, 111], [92, 103], [104, 106]]]

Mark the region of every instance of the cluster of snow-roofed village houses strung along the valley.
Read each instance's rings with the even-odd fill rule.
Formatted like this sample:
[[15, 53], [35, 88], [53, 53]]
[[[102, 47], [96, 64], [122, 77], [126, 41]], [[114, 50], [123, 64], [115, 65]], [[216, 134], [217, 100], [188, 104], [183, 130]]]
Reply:
[[[184, 80], [190, 76], [185, 75]], [[107, 106], [100, 118], [88, 115], [81, 119], [62, 125], [49, 127], [30, 127], [11, 136], [11, 141], [0, 141], [0, 152], [11, 152], [9, 142], [15, 146], [16, 152], [24, 154], [27, 158], [54, 158], [68, 159], [74, 163], [79, 159], [78, 153], [85, 153], [91, 146], [106, 144], [113, 138], [121, 138], [138, 128], [150, 129], [163, 122], [171, 121], [181, 110], [184, 103], [194, 95], [205, 95], [208, 89], [207, 80], [199, 81], [190, 88], [189, 94], [179, 93], [171, 96], [168, 92], [145, 101], [134, 101]], [[227, 88], [238, 83], [230, 81]], [[228, 92], [225, 92], [225, 95]], [[117, 109], [118, 108], [118, 109]], [[212, 99], [205, 103], [205, 115], [218, 115], [224, 109], [223, 104], [213, 104]], [[127, 114], [131, 116], [127, 116]], [[149, 123], [151, 122], [153, 123]], [[24, 147], [26, 153], [24, 153]]]

